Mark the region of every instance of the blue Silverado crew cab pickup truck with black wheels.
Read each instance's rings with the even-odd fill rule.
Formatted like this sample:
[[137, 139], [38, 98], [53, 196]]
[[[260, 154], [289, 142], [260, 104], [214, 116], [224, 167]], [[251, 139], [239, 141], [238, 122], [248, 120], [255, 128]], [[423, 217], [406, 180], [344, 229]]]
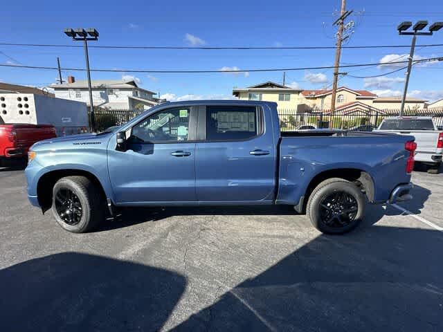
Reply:
[[280, 131], [277, 104], [167, 102], [110, 132], [37, 142], [30, 202], [70, 232], [127, 206], [292, 205], [341, 234], [367, 203], [410, 199], [413, 136]]

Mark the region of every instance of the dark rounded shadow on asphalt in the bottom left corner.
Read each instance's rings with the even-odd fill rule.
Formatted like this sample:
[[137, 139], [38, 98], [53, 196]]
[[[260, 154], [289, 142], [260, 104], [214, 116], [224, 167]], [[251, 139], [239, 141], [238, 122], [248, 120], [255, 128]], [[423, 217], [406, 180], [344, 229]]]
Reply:
[[63, 252], [0, 270], [0, 331], [158, 331], [186, 288], [177, 273]]

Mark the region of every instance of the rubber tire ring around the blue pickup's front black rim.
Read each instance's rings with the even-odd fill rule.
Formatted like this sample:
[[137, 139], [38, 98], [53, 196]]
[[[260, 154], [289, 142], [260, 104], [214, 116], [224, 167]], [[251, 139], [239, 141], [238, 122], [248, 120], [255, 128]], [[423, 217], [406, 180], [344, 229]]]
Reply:
[[[68, 225], [65, 223], [60, 216], [57, 213], [57, 210], [55, 209], [55, 195], [57, 192], [61, 189], [68, 189], [74, 192], [75, 195], [77, 195], [78, 199], [80, 200], [80, 204], [82, 205], [82, 218], [80, 219], [80, 223], [76, 225]], [[87, 199], [87, 196], [84, 194], [84, 192], [78, 187], [76, 183], [69, 179], [62, 179], [55, 183], [53, 187], [53, 203], [52, 208], [53, 216], [57, 223], [64, 228], [65, 230], [73, 233], [81, 233], [84, 232], [84, 230], [88, 227], [89, 219], [91, 218], [90, 213], [90, 206], [89, 201]]]

